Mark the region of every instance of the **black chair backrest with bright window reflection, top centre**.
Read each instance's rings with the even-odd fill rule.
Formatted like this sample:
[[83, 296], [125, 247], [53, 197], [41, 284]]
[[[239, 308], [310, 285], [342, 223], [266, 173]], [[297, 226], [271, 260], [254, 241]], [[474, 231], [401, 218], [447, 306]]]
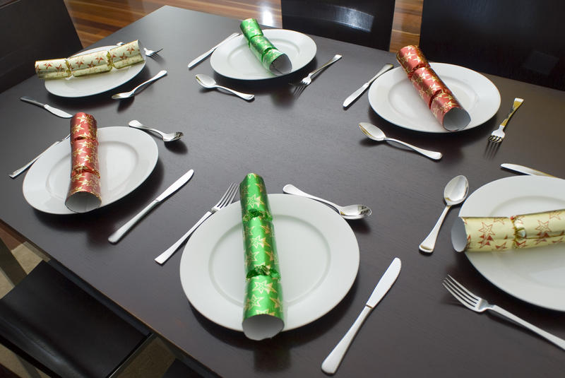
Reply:
[[388, 50], [394, 0], [281, 0], [283, 28]]

